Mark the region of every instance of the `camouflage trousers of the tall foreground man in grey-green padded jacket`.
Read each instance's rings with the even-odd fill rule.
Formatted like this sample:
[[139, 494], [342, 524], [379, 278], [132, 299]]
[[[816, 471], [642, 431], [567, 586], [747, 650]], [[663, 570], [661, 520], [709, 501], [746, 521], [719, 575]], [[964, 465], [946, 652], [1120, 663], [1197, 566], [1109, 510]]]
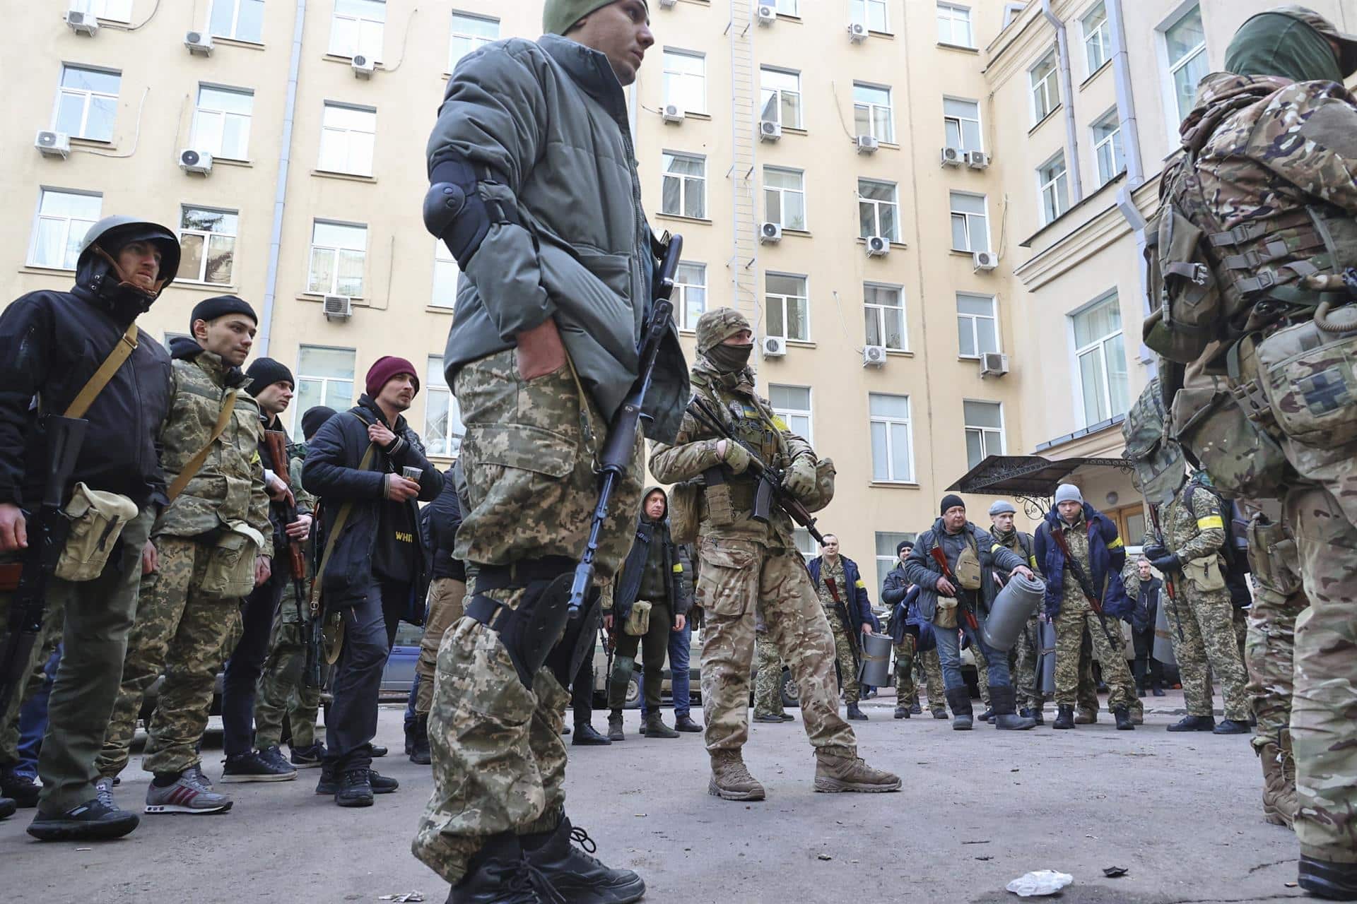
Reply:
[[[589, 534], [594, 451], [607, 426], [570, 366], [524, 379], [510, 348], [464, 366], [455, 390], [467, 426], [461, 464], [471, 503], [456, 557], [472, 569], [577, 557]], [[600, 538], [600, 580], [612, 577], [635, 535], [642, 451], [638, 438]], [[516, 609], [524, 591], [487, 596]], [[411, 843], [419, 861], [456, 884], [489, 836], [555, 828], [566, 797], [560, 729], [569, 702], [550, 670], [524, 687], [498, 632], [463, 617], [444, 633], [429, 710], [433, 794]]]

